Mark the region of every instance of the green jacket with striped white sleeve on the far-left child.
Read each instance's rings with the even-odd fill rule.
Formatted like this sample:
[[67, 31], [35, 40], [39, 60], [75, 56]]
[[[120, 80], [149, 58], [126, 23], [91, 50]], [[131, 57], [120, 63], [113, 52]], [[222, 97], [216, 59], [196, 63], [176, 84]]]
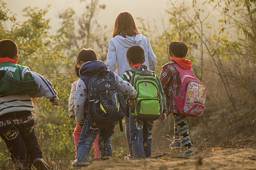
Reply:
[[57, 97], [49, 80], [26, 66], [1, 61], [0, 58], [0, 116], [10, 112], [33, 111], [30, 97], [40, 96], [50, 101]]

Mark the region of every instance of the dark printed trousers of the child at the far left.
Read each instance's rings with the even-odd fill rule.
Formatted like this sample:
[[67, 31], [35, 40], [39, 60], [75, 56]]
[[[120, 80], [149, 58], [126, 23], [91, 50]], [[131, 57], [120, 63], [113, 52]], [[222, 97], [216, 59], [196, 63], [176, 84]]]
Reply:
[[34, 119], [31, 112], [11, 112], [0, 116], [0, 135], [5, 141], [14, 163], [23, 164], [31, 169], [35, 158], [42, 158], [34, 131]]

